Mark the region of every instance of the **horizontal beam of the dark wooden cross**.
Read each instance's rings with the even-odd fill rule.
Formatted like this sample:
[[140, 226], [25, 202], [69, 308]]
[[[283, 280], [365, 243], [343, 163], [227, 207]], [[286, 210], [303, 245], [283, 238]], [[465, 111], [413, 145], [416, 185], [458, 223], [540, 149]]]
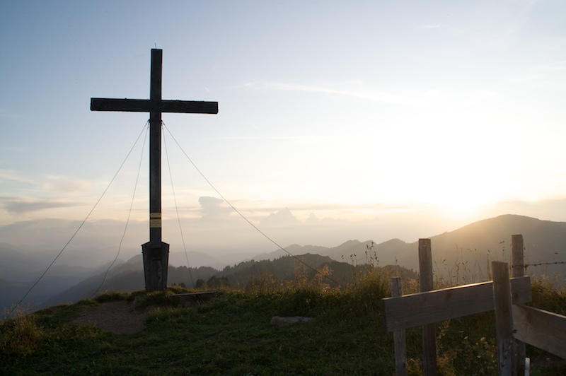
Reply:
[[218, 102], [202, 102], [198, 100], [91, 98], [91, 111], [182, 112], [185, 114], [217, 114]]

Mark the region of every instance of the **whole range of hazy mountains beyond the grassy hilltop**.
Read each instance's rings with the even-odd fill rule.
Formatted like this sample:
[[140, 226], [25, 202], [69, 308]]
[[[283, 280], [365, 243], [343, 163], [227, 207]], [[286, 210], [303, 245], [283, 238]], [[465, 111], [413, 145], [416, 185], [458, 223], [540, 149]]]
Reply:
[[[531, 265], [527, 274], [545, 275], [556, 286], [565, 286], [566, 223], [516, 215], [478, 221], [430, 237], [435, 276], [458, 284], [487, 281], [491, 261], [511, 262], [511, 236], [516, 234], [524, 238], [526, 263]], [[304, 263], [313, 269], [327, 265], [335, 271], [335, 275], [342, 274], [340, 278], [345, 278], [352, 268], [367, 263], [403, 266], [403, 273], [407, 276], [410, 269], [418, 270], [418, 242], [392, 239], [376, 244], [371, 240], [348, 240], [337, 247], [290, 245], [251, 259], [242, 259], [233, 266], [200, 252], [172, 253], [168, 283], [192, 287], [197, 281], [202, 283], [211, 278], [224, 278], [233, 286], [244, 287], [250, 278], [262, 272], [289, 279], [293, 268], [296, 268], [296, 261], [291, 255], [301, 255], [299, 258], [306, 260]], [[10, 307], [37, 282], [47, 265], [30, 257], [25, 249], [6, 243], [0, 243], [0, 257], [3, 260], [0, 265], [0, 306]], [[173, 266], [186, 265], [186, 259], [192, 267]], [[33, 307], [40, 308], [88, 298], [97, 290], [144, 288], [141, 254], [127, 262], [117, 260], [110, 271], [109, 265], [96, 268], [52, 266], [23, 304], [33, 302]]]

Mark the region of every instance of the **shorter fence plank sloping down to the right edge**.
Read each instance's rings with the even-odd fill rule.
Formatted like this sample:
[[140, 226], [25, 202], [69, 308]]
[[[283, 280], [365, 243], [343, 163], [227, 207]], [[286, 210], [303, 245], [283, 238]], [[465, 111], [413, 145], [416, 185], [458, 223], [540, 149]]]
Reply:
[[566, 316], [514, 305], [515, 338], [566, 359]]

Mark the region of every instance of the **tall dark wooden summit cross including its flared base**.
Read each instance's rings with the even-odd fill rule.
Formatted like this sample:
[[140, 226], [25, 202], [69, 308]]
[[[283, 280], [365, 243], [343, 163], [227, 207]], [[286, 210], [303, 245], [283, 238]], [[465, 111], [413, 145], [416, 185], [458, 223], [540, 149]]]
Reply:
[[91, 111], [149, 112], [149, 242], [141, 245], [146, 290], [165, 290], [169, 245], [161, 242], [161, 112], [217, 114], [218, 102], [161, 99], [162, 49], [151, 49], [147, 99], [91, 98]]

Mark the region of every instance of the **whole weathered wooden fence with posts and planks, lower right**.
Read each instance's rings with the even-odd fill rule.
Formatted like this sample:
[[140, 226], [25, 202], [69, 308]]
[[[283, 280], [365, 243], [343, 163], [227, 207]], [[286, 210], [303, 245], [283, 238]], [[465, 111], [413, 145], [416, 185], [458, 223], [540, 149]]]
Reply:
[[499, 375], [518, 375], [525, 343], [566, 359], [566, 317], [527, 307], [531, 280], [524, 276], [522, 235], [512, 236], [512, 270], [492, 262], [493, 281], [432, 290], [432, 249], [419, 240], [420, 293], [403, 295], [400, 277], [391, 278], [391, 298], [383, 299], [386, 331], [393, 331], [395, 374], [407, 375], [405, 329], [422, 326], [424, 375], [437, 374], [436, 322], [495, 310]]

